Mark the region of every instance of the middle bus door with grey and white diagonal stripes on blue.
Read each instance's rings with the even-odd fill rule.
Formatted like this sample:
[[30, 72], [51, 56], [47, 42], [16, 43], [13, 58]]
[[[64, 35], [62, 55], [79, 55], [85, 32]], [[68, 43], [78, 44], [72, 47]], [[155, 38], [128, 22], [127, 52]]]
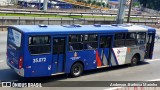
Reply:
[[99, 55], [102, 60], [101, 66], [110, 65], [111, 58], [111, 47], [112, 47], [112, 36], [100, 36], [100, 48]]

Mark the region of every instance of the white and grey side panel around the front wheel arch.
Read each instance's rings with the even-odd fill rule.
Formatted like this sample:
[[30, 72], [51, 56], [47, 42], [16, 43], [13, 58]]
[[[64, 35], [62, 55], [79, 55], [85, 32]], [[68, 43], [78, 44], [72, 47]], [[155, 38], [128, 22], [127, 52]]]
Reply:
[[145, 45], [113, 48], [113, 55], [111, 55], [111, 65], [116, 66], [131, 63], [131, 59], [135, 54], [139, 54], [140, 61], [143, 61]]

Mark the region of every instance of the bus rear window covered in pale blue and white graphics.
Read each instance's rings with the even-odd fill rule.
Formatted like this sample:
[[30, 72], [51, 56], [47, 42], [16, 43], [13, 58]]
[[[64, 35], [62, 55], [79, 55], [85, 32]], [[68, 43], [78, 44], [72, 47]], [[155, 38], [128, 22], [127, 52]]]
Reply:
[[8, 41], [14, 44], [16, 47], [21, 47], [22, 34], [15, 29], [8, 30]]

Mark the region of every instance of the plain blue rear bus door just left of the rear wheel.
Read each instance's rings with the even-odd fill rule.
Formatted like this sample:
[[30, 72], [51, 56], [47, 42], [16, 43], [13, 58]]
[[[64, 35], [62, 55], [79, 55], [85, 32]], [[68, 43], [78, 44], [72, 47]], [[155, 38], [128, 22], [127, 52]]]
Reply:
[[52, 74], [64, 72], [65, 38], [53, 38]]

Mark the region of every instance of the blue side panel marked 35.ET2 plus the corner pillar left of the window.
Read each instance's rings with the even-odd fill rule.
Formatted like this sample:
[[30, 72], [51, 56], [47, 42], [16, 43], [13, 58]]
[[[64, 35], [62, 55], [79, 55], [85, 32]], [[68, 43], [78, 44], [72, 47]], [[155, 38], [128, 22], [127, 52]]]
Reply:
[[28, 37], [24, 44], [24, 72], [25, 77], [51, 76], [51, 54], [31, 55], [28, 48]]

